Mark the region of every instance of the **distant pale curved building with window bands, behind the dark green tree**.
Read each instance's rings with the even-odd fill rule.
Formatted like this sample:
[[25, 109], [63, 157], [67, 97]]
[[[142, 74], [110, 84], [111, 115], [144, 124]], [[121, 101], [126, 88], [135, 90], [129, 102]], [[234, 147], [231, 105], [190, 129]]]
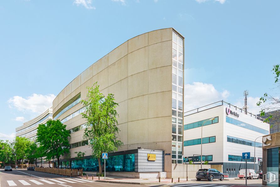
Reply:
[[16, 136], [29, 138], [31, 141], [35, 140], [38, 125], [46, 123], [49, 119], [52, 119], [52, 108], [16, 128]]

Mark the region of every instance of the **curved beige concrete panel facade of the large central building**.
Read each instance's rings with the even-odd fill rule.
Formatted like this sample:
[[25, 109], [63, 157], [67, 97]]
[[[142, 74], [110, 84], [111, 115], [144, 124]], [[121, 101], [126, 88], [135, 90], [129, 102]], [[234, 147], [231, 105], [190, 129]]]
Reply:
[[[183, 41], [184, 37], [173, 28], [151, 31], [124, 42], [92, 64], [54, 99], [53, 117], [78, 94], [86, 99], [86, 87], [97, 82], [105, 96], [113, 93], [119, 103], [119, 139], [124, 145], [118, 151], [141, 147], [171, 153], [172, 32]], [[79, 102], [58, 119], [62, 120], [82, 107]], [[63, 123], [67, 129], [73, 129], [86, 121], [77, 115]], [[69, 143], [83, 141], [83, 131], [71, 133]], [[71, 158], [76, 157], [74, 152], [78, 151], [85, 152], [85, 156], [91, 155], [89, 146], [79, 146], [70, 149]], [[165, 156], [164, 160], [164, 171], [171, 177], [171, 155]]]

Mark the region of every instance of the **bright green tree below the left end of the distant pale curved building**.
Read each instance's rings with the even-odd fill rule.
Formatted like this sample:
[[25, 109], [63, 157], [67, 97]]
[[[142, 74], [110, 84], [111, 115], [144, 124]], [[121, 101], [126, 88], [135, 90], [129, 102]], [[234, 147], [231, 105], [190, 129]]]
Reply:
[[30, 145], [30, 140], [25, 137], [17, 136], [14, 140], [14, 151], [19, 160], [21, 160], [21, 168], [23, 168], [23, 159], [25, 159], [27, 155], [27, 150]]

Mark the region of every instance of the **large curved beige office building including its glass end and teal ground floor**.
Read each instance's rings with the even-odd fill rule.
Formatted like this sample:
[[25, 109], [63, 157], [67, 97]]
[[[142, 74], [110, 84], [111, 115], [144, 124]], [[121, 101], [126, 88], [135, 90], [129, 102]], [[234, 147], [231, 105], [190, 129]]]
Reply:
[[[175, 164], [183, 162], [183, 54], [184, 37], [176, 30], [154, 30], [124, 42], [71, 81], [53, 101], [53, 118], [71, 131], [72, 163], [65, 156], [62, 165], [77, 167], [75, 152], [82, 151], [84, 170], [97, 170], [83, 140], [86, 121], [80, 115], [86, 87], [97, 82], [105, 96], [113, 93], [119, 103], [119, 138], [124, 143], [109, 154], [106, 171], [166, 172], [171, 178]], [[156, 160], [149, 162], [147, 152], [156, 154]]]

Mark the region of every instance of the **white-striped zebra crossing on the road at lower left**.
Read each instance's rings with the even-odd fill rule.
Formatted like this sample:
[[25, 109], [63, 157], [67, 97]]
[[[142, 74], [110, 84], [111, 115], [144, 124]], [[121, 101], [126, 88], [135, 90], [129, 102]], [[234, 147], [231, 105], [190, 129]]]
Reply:
[[78, 178], [64, 178], [64, 179], [27, 179], [27, 180], [7, 180], [9, 186], [28, 186], [28, 185], [44, 185], [44, 184], [59, 184], [62, 186], [68, 186], [72, 183], [93, 183], [95, 181], [78, 179]]

